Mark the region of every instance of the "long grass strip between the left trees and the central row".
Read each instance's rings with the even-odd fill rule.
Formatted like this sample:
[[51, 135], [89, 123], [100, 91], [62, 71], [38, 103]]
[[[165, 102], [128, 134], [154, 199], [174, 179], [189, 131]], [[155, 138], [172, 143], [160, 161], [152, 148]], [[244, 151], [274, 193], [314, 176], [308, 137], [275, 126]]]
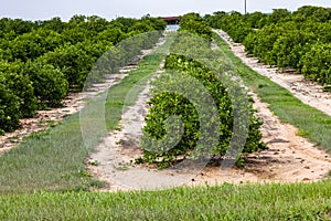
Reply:
[[[167, 48], [166, 44], [161, 48]], [[164, 49], [160, 49], [164, 50]], [[122, 114], [128, 91], [137, 82], [154, 73], [163, 59], [160, 50], [147, 55], [136, 71], [108, 90], [106, 123], [114, 129]], [[141, 88], [141, 87], [140, 87]], [[131, 97], [131, 103], [137, 98]], [[88, 105], [94, 105], [92, 101]], [[90, 178], [86, 170], [86, 157], [106, 133], [93, 134], [84, 139], [79, 114], [67, 116], [56, 127], [33, 134], [17, 148], [0, 157], [0, 194], [34, 192], [39, 190], [87, 190], [103, 182]], [[93, 126], [93, 125], [92, 125]]]

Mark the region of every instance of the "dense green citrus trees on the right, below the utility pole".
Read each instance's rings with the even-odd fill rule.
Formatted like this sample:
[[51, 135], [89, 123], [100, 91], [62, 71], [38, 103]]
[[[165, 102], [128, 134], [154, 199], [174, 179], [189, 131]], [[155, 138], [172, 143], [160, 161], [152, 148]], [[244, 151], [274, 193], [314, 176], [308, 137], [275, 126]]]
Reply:
[[271, 14], [216, 12], [205, 19], [244, 43], [246, 52], [260, 62], [331, 84], [331, 9], [307, 6], [295, 12], [276, 9]]

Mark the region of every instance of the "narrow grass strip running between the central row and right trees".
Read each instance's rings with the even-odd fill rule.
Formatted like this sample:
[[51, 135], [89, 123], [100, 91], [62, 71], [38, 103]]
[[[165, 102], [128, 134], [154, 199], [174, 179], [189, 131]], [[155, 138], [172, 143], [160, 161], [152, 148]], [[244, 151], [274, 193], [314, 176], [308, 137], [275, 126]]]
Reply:
[[214, 35], [220, 49], [233, 62], [245, 85], [263, 102], [270, 104], [269, 108], [281, 122], [296, 126], [299, 129], [298, 135], [309, 138], [328, 151], [331, 150], [331, 116], [303, 104], [284, 87], [246, 66], [218, 35]]

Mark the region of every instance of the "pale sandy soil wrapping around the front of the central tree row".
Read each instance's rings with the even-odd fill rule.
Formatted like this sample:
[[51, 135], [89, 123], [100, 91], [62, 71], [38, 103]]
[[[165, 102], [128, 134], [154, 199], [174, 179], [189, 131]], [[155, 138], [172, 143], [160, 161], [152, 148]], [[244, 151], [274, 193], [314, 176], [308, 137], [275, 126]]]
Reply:
[[[269, 72], [267, 67], [259, 69]], [[307, 90], [310, 92], [314, 88], [317, 88], [316, 85]], [[296, 87], [296, 92], [299, 91], [299, 87]], [[318, 97], [328, 95], [321, 94]], [[135, 159], [142, 155], [139, 149], [139, 138], [145, 125], [143, 118], [148, 112], [146, 102], [149, 97], [149, 85], [147, 85], [136, 105], [124, 113], [122, 129], [110, 133], [88, 159], [89, 162], [97, 165], [89, 166], [89, 171], [107, 182], [103, 191], [160, 189], [205, 185], [206, 182], [215, 185], [318, 181], [323, 179], [331, 168], [330, 155], [316, 148], [306, 138], [297, 136], [297, 128], [280, 123], [278, 117], [268, 109], [268, 104], [261, 103], [254, 94], [254, 107], [258, 110], [257, 116], [264, 122], [263, 141], [268, 145], [269, 149], [249, 155], [244, 168], [233, 167], [221, 170], [220, 165], [215, 162], [202, 170], [166, 169], [159, 171], [152, 167], [135, 165]], [[328, 105], [325, 107], [328, 108]]]

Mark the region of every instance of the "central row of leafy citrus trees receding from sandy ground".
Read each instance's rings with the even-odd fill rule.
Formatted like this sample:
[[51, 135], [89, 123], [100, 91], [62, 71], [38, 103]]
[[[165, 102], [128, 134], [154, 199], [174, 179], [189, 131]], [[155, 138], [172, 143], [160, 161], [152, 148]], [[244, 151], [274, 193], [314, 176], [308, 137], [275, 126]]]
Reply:
[[195, 13], [184, 15], [180, 27], [167, 72], [152, 82], [140, 160], [162, 168], [226, 152], [236, 160], [264, 148], [246, 91], [231, 78], [234, 69], [225, 56], [211, 49], [211, 28]]

